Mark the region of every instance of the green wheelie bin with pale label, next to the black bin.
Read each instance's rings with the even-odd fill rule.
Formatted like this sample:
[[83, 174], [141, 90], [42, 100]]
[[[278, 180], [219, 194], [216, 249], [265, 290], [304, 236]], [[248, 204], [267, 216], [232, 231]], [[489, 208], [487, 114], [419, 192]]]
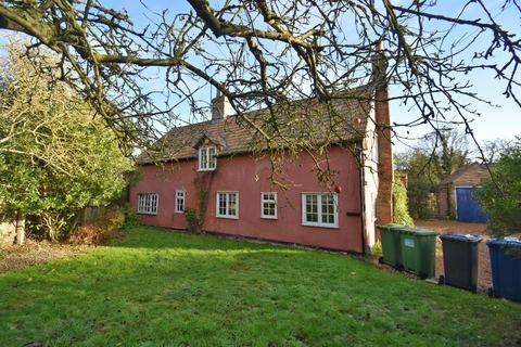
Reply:
[[432, 230], [405, 227], [401, 230], [402, 260], [404, 269], [420, 279], [435, 275], [436, 235]]

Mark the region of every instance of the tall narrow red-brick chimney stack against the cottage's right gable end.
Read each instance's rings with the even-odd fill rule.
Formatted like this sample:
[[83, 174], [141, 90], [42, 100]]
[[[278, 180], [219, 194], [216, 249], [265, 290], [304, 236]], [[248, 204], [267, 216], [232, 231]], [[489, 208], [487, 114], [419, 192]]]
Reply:
[[374, 116], [378, 136], [378, 195], [377, 223], [393, 221], [393, 147], [391, 143], [391, 115], [389, 110], [389, 90], [386, 80], [387, 61], [382, 42], [377, 43], [373, 61], [372, 82], [374, 85]]

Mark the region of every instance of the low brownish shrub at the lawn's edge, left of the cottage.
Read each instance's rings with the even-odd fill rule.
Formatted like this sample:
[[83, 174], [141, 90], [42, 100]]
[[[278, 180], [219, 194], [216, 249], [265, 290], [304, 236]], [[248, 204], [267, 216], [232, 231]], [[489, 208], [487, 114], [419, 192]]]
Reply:
[[120, 207], [113, 206], [94, 220], [76, 228], [68, 236], [74, 244], [99, 245], [119, 230], [125, 222]]

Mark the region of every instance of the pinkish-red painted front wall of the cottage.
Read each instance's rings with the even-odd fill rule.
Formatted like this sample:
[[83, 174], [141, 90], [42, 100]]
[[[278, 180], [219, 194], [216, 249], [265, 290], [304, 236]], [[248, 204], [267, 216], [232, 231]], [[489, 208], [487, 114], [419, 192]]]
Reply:
[[[342, 187], [339, 194], [339, 228], [302, 226], [302, 193], [327, 192], [318, 182], [314, 162], [301, 155], [284, 164], [280, 177], [292, 180], [287, 191], [274, 188], [269, 181], [268, 158], [254, 159], [249, 155], [219, 157], [217, 169], [209, 183], [208, 205], [203, 229], [266, 240], [276, 240], [325, 248], [363, 252], [360, 214], [360, 179], [355, 157], [346, 149], [329, 151], [330, 167], [338, 171], [335, 185]], [[137, 210], [138, 194], [158, 193], [156, 216], [140, 215], [150, 226], [186, 229], [183, 214], [175, 213], [176, 190], [185, 190], [186, 206], [196, 207], [194, 180], [198, 160], [182, 160], [163, 166], [142, 166], [143, 179], [130, 189], [130, 205]], [[208, 175], [208, 174], [204, 174]], [[217, 191], [239, 191], [239, 219], [215, 217]], [[278, 193], [278, 219], [260, 218], [260, 192]], [[358, 214], [358, 215], [357, 215]]]

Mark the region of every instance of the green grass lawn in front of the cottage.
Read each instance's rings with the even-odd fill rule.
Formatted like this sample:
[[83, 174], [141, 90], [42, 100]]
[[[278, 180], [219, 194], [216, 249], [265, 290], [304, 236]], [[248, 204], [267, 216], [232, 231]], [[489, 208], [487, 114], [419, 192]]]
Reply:
[[144, 227], [0, 274], [0, 346], [517, 346], [520, 323], [353, 257]]

